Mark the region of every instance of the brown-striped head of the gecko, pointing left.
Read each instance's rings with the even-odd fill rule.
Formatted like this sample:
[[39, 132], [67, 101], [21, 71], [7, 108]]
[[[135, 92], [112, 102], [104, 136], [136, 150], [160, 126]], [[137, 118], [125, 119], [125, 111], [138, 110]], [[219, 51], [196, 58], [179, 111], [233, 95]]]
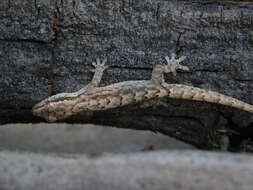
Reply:
[[36, 104], [32, 113], [48, 122], [55, 122], [72, 115], [72, 103], [73, 97], [68, 97], [67, 93], [57, 94]]

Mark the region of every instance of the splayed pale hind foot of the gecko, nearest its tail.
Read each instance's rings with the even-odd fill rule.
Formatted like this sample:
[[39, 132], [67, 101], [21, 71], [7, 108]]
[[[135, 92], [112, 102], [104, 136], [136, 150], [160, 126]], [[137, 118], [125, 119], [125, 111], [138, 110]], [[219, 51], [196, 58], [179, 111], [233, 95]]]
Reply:
[[178, 59], [176, 59], [176, 55], [174, 53], [171, 54], [171, 58], [168, 56], [165, 57], [167, 61], [168, 70], [167, 72], [172, 72], [174, 76], [177, 74], [177, 69], [181, 69], [184, 71], [189, 71], [189, 68], [187, 66], [180, 65], [180, 62], [184, 61], [186, 56], [182, 56]]

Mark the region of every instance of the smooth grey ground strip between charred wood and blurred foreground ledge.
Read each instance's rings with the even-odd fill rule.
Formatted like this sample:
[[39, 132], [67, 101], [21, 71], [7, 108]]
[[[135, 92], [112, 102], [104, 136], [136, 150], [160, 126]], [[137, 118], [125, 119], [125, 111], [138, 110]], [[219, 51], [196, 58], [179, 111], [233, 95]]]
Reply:
[[194, 149], [193, 146], [150, 131], [92, 124], [9, 124], [0, 126], [1, 150], [40, 153], [128, 153]]

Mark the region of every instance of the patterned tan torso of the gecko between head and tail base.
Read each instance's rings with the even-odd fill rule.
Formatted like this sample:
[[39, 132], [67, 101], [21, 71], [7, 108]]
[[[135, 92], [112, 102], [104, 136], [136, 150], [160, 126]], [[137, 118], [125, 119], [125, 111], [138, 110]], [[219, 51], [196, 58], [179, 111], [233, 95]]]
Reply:
[[92, 89], [80, 97], [80, 101], [74, 106], [73, 112], [108, 110], [117, 107], [138, 103], [154, 97], [163, 97], [167, 94], [165, 90], [146, 85], [129, 85], [124, 88], [102, 87]]

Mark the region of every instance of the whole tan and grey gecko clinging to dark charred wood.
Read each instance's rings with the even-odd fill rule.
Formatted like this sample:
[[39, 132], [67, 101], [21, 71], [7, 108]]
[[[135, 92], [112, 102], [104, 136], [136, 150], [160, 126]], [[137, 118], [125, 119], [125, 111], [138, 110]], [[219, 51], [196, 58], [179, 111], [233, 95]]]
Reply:
[[73, 93], [60, 93], [42, 100], [32, 108], [32, 113], [55, 122], [82, 112], [94, 112], [123, 107], [151, 99], [163, 97], [187, 99], [231, 106], [253, 113], [253, 106], [224, 94], [183, 84], [169, 84], [164, 80], [165, 73], [176, 75], [177, 70], [189, 71], [180, 63], [185, 56], [176, 58], [175, 54], [165, 57], [167, 64], [157, 64], [152, 70], [150, 80], [133, 80], [99, 87], [103, 72], [108, 66], [106, 59], [93, 62], [95, 73], [88, 85]]

